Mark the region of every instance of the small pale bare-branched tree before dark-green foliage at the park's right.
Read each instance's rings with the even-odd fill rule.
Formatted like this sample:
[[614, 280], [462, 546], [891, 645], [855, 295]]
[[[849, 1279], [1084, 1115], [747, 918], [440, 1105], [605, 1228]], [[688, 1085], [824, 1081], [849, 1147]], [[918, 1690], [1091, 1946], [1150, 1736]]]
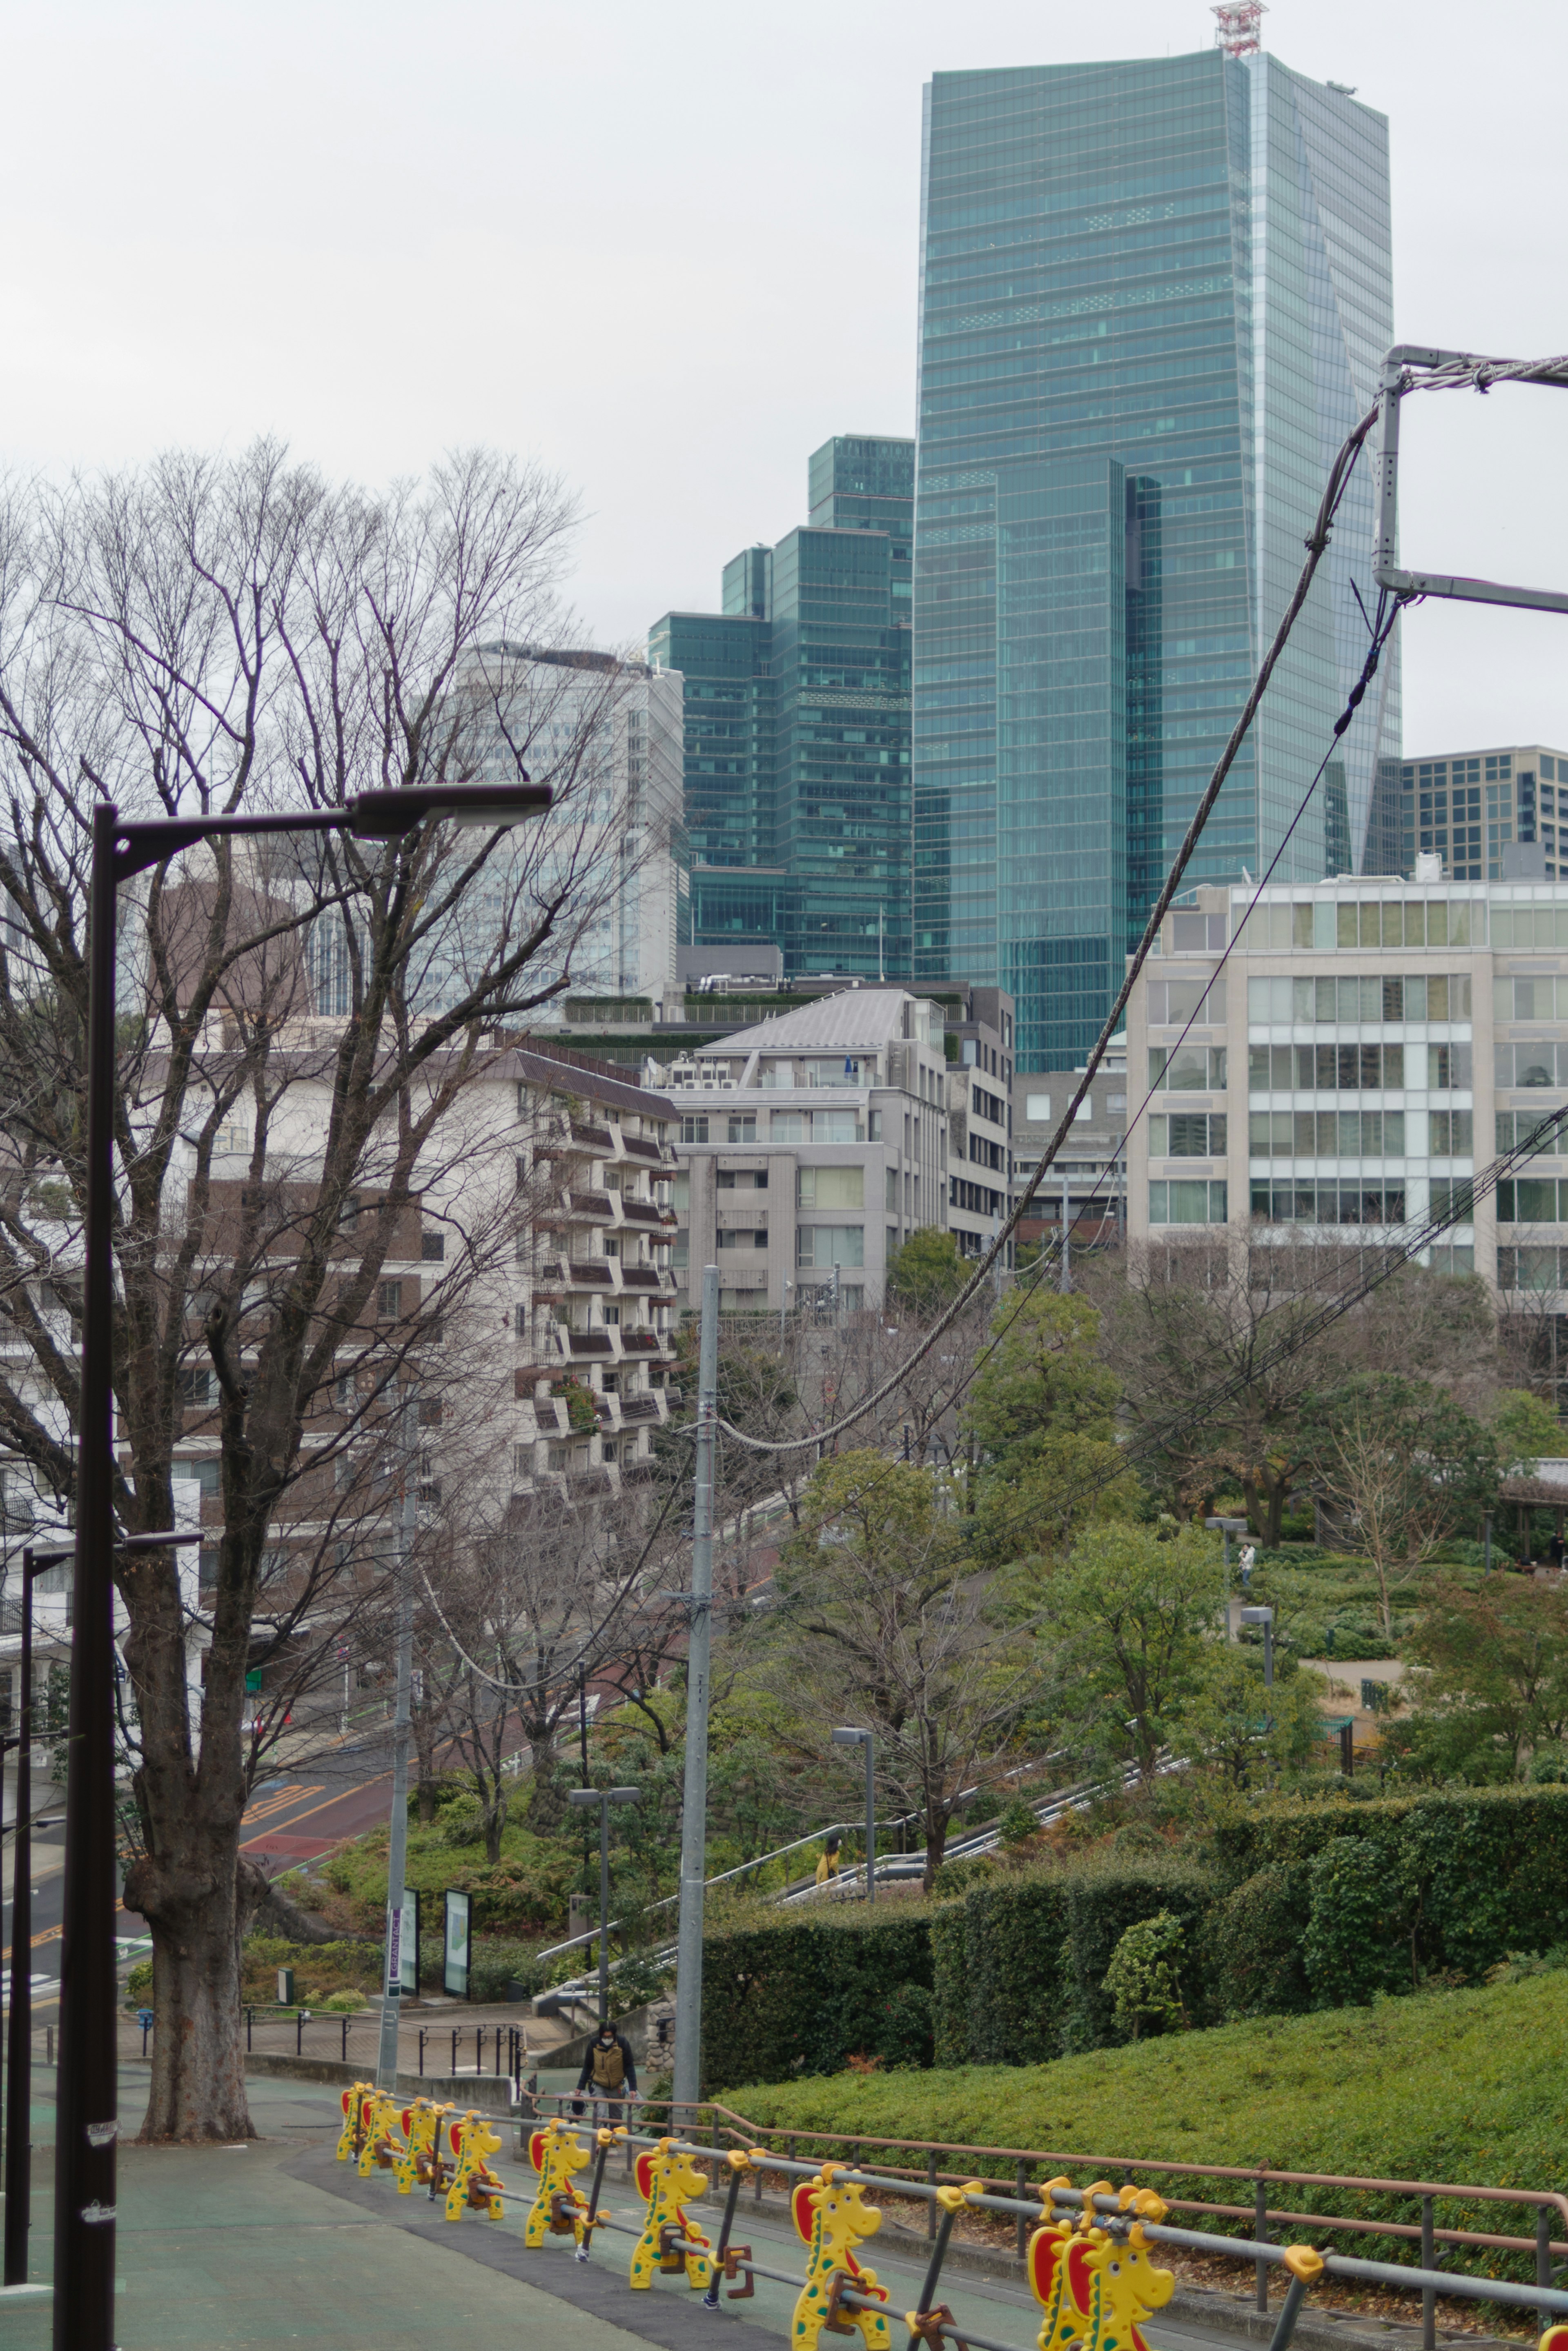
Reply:
[[1385, 1634], [1394, 1582], [1497, 1498], [1497, 1439], [1429, 1380], [1359, 1373], [1319, 1399], [1305, 1444], [1378, 1575]]

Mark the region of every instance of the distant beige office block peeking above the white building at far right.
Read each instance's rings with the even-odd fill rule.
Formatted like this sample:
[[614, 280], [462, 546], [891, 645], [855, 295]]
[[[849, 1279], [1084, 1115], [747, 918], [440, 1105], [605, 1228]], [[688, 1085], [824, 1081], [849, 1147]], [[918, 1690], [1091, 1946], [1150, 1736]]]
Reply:
[[[1455, 882], [1556, 882], [1561, 790], [1561, 872], [1568, 877], [1568, 752], [1507, 743], [1401, 759], [1396, 776], [1399, 813], [1389, 832], [1399, 856], [1389, 858], [1389, 872], [1408, 875], [1418, 856], [1439, 856]], [[1392, 804], [1392, 790], [1387, 797]], [[1521, 849], [1537, 849], [1540, 858], [1521, 858]], [[1526, 865], [1537, 865], [1537, 875], [1526, 875]]]

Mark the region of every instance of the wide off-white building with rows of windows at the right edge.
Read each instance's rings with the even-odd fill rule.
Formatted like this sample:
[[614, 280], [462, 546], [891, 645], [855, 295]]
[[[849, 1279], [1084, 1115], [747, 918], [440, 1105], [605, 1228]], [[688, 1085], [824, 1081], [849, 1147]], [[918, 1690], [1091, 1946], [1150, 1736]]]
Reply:
[[[1276, 884], [1251, 917], [1253, 891], [1199, 889], [1166, 917], [1128, 1004], [1133, 1241], [1392, 1241], [1568, 1103], [1568, 879], [1439, 870]], [[1568, 1286], [1568, 1147], [1422, 1262]]]

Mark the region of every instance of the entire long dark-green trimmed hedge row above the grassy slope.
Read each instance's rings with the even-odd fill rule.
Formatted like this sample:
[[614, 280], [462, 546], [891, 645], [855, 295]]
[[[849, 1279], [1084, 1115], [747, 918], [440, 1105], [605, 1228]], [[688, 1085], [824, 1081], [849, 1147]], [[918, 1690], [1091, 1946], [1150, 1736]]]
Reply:
[[[1269, 1803], [1215, 1867], [1138, 1853], [994, 1876], [961, 1902], [708, 1937], [710, 2088], [889, 2064], [1037, 2064], [1128, 2038], [1105, 1975], [1121, 1935], [1185, 1928], [1192, 2024], [1479, 1982], [1568, 1944], [1568, 1789]], [[926, 2031], [929, 2027], [929, 2031]]]

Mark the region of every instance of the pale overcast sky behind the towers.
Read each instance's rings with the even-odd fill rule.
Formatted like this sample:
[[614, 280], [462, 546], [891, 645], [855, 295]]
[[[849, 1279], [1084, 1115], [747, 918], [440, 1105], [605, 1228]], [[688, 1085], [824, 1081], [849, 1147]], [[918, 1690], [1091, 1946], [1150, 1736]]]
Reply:
[[[914, 428], [919, 89], [1208, 47], [1201, 0], [78, 0], [0, 14], [0, 456], [270, 430], [381, 482], [463, 442], [581, 491], [602, 642], [712, 609], [830, 433]], [[1274, 0], [1392, 118], [1401, 339], [1568, 350], [1561, 0]], [[1568, 588], [1568, 397], [1410, 402], [1410, 562]], [[1406, 621], [1406, 748], [1568, 745], [1568, 616]]]

